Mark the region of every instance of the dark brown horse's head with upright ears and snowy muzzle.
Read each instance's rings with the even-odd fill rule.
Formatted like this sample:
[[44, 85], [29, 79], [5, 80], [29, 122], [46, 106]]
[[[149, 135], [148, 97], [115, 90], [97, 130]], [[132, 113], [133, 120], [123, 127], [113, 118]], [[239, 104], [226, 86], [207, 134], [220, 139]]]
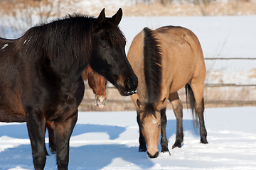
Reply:
[[129, 96], [136, 93], [138, 79], [125, 55], [126, 40], [118, 28], [121, 18], [121, 8], [112, 18], [106, 18], [103, 9], [93, 23], [90, 66], [116, 86], [122, 96]]

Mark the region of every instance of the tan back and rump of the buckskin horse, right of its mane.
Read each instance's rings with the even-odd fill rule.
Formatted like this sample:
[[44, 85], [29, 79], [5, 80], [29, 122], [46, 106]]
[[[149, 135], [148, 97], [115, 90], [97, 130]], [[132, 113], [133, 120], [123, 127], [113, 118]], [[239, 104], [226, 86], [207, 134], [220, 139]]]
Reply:
[[[196, 35], [187, 28], [180, 26], [165, 26], [155, 30], [156, 37], [161, 42], [163, 59], [162, 67], [166, 75], [172, 77], [171, 92], [178, 91], [190, 81], [191, 77], [205, 79], [206, 67], [203, 52]], [[169, 62], [167, 62], [169, 61]], [[180, 67], [180, 66], [183, 67]], [[167, 78], [164, 78], [167, 79]]]

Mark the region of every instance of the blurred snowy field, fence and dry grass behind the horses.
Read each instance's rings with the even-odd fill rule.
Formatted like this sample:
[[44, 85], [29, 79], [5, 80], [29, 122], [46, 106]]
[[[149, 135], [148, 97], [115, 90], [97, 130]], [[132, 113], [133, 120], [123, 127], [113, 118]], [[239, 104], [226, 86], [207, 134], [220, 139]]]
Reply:
[[[201, 41], [206, 60], [206, 107], [256, 105], [256, 0], [0, 0], [0, 37], [18, 38], [28, 28], [68, 13], [98, 16], [105, 8], [112, 16], [120, 7], [127, 52], [144, 27], [189, 28]], [[107, 84], [104, 108], [95, 106], [87, 81], [85, 86], [80, 111], [134, 111], [130, 97], [120, 96], [112, 84]], [[184, 89], [178, 93], [186, 108]]]

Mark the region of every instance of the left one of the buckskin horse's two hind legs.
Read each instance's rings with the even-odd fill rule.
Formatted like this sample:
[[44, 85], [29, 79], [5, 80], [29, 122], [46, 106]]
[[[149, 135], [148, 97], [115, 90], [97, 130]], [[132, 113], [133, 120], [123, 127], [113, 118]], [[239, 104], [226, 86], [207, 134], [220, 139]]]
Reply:
[[178, 93], [174, 92], [173, 94], [169, 95], [169, 101], [171, 102], [171, 106], [173, 107], [174, 114], [176, 117], [176, 141], [172, 148], [181, 147], [181, 143], [183, 142], [183, 112], [182, 112], [182, 103], [181, 100], [178, 98]]

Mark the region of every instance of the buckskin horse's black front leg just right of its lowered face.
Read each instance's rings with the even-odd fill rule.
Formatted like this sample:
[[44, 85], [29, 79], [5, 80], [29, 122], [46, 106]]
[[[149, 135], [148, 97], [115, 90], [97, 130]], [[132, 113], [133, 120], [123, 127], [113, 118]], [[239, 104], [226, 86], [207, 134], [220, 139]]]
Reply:
[[163, 108], [161, 109], [161, 152], [169, 152], [168, 140], [166, 138], [166, 123], [166, 108]]

